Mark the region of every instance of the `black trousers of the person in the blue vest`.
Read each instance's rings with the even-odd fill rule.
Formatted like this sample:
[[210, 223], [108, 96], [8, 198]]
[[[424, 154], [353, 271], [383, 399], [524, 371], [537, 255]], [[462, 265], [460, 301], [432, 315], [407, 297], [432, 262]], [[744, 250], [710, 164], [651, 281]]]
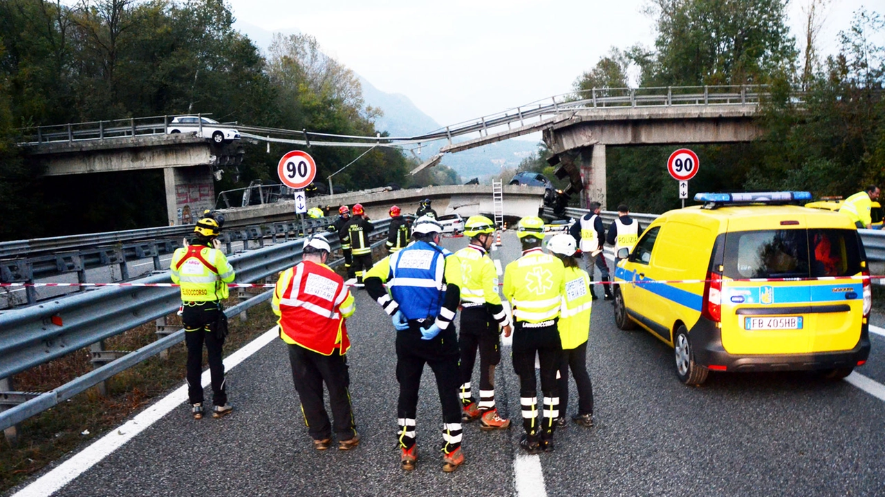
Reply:
[[[425, 326], [431, 324], [432, 322]], [[401, 447], [410, 448], [415, 445], [414, 422], [418, 413], [418, 390], [424, 364], [434, 371], [436, 390], [443, 407], [443, 423], [457, 425], [455, 430], [443, 431], [443, 450], [449, 453], [461, 445], [458, 356], [458, 337], [454, 326], [450, 325], [432, 340], [421, 339], [419, 325], [411, 324], [408, 330], [396, 332], [396, 381], [399, 382], [396, 416], [400, 421], [397, 438]], [[457, 441], [451, 442], [451, 438]]]

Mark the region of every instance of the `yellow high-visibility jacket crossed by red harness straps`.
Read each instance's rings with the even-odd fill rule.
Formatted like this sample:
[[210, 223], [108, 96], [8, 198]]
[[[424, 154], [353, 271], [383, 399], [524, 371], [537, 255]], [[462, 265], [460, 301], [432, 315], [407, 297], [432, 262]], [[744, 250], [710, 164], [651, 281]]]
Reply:
[[204, 245], [176, 248], [169, 269], [172, 282], [181, 285], [182, 302], [227, 299], [227, 283], [235, 277], [224, 253]]

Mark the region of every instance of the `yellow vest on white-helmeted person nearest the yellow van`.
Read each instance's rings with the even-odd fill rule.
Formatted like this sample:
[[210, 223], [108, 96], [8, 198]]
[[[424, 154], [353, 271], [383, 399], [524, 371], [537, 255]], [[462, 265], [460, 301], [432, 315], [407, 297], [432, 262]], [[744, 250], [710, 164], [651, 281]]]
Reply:
[[576, 348], [587, 341], [590, 333], [590, 277], [587, 271], [578, 267], [567, 267], [565, 271], [566, 292], [562, 295], [559, 308], [559, 339], [562, 348]]

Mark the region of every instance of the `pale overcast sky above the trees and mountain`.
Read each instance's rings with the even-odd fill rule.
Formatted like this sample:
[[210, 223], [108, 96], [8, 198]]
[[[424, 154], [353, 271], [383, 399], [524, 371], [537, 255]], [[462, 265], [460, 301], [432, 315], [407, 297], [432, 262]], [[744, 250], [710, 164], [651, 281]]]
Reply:
[[[227, 1], [240, 21], [312, 34], [328, 55], [443, 126], [566, 93], [610, 47], [651, 46], [655, 35], [645, 0]], [[808, 1], [789, 6], [797, 37]], [[822, 51], [835, 51], [861, 5], [885, 13], [885, 0], [831, 0]]]

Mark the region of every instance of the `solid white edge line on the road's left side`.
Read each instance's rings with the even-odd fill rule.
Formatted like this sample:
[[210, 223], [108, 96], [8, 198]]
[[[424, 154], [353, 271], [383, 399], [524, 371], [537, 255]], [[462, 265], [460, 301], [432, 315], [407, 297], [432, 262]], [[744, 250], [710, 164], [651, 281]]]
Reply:
[[[224, 360], [225, 371], [234, 369], [237, 364], [242, 363], [244, 359], [258, 352], [259, 349], [278, 336], [277, 327], [273, 326], [273, 328], [261, 334], [257, 339], [250, 341], [243, 348], [227, 356], [227, 359]], [[210, 385], [209, 371], [204, 371], [201, 380], [204, 387]], [[180, 406], [182, 402], [186, 401], [188, 401], [187, 383], [176, 388], [172, 394], [166, 395], [148, 409], [144, 409], [138, 416], [127, 421], [127, 423], [122, 424], [112, 432], [104, 435], [104, 437], [96, 440], [92, 445], [84, 448], [80, 453], [65, 461], [65, 463], [61, 463], [54, 470], [37, 478], [34, 483], [21, 489], [13, 497], [27, 497], [31, 495], [45, 497], [58, 492], [59, 489], [70, 483], [73, 478], [77, 478], [84, 471], [101, 462], [105, 457], [126, 444], [127, 441], [132, 440], [135, 435], [141, 433], [151, 424], [156, 423], [160, 418], [169, 414], [173, 409]], [[212, 423], [211, 419], [206, 421]]]

